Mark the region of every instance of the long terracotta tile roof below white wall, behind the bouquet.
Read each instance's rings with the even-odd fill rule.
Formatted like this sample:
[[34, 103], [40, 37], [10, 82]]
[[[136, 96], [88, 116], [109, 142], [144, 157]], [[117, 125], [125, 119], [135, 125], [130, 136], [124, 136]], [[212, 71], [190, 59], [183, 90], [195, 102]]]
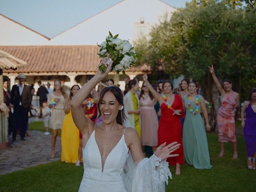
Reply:
[[[98, 46], [0, 46], [1, 50], [24, 60], [27, 65], [6, 73], [40, 72], [96, 72], [100, 58]], [[146, 65], [132, 68], [132, 72], [150, 71]]]

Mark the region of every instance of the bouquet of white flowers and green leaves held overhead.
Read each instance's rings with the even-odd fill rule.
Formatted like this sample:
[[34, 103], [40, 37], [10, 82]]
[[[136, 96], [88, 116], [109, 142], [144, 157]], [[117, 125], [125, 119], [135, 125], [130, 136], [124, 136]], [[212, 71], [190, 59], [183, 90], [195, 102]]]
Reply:
[[[118, 34], [113, 36], [110, 32], [106, 37], [106, 41], [100, 45], [100, 52], [98, 55], [100, 58], [106, 57], [110, 54], [110, 61], [107, 64], [101, 64], [99, 69], [102, 73], [106, 71], [108, 64], [113, 61], [110, 71], [115, 70], [117, 74], [121, 71], [125, 75], [125, 70], [131, 68], [132, 65], [140, 58], [139, 52], [133, 50], [132, 44], [128, 40], [122, 40], [117, 38]], [[135, 65], [134, 65], [135, 66]]]

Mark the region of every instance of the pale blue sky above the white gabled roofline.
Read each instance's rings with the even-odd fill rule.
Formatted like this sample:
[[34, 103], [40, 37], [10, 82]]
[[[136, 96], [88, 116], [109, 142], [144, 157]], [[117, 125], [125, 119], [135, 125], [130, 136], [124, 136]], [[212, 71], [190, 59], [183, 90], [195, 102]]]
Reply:
[[[52, 38], [121, 0], [0, 0], [0, 13]], [[190, 0], [162, 0], [185, 7]]]

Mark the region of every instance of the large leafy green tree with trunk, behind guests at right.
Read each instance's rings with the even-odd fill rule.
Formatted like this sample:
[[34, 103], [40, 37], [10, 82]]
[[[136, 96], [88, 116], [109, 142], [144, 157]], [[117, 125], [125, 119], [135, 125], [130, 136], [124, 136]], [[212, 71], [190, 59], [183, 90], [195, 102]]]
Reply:
[[251, 87], [248, 82], [255, 79], [256, 72], [255, 22], [252, 14], [226, 6], [226, 2], [192, 0], [171, 18], [165, 15], [152, 28], [149, 40], [144, 38], [136, 46], [143, 50], [142, 63], [173, 77], [183, 74], [201, 82], [206, 100], [214, 105], [214, 127], [220, 96], [208, 66], [214, 65], [220, 81], [230, 78], [238, 92], [241, 83], [246, 85], [243, 88]]

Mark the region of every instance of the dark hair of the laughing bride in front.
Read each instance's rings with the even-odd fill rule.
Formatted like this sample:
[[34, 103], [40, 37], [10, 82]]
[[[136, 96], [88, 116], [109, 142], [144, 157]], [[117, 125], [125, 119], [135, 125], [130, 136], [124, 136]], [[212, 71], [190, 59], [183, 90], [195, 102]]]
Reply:
[[[116, 100], [118, 101], [119, 104], [121, 104], [122, 106], [124, 106], [124, 97], [123, 97], [123, 93], [120, 90], [119, 87], [117, 86], [108, 86], [105, 87], [104, 89], [102, 89], [102, 91], [100, 92], [100, 98], [97, 104], [98, 110], [100, 112], [100, 115], [98, 117], [101, 116], [101, 111], [100, 111], [100, 103], [103, 100], [104, 95], [106, 94], [106, 92], [112, 92], [112, 94], [115, 96]], [[123, 118], [123, 119], [122, 119]], [[123, 121], [124, 118], [127, 118], [126, 115], [124, 114], [124, 109], [122, 110], [118, 110], [118, 114], [116, 117], [116, 122], [120, 125], [123, 125]]]

